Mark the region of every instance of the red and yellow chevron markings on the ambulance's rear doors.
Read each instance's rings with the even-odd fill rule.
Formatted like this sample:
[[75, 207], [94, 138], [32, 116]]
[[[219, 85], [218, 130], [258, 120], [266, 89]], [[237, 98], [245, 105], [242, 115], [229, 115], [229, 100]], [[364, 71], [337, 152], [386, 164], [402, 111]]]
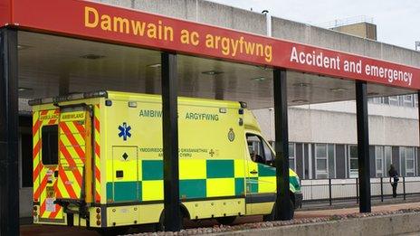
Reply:
[[[42, 163], [41, 130], [50, 125], [59, 130], [59, 165]], [[99, 104], [93, 107], [93, 118], [85, 110], [33, 112], [33, 144], [33, 201], [40, 203], [41, 218], [62, 219], [63, 209], [53, 204], [55, 199], [84, 197], [87, 203], [100, 203]]]

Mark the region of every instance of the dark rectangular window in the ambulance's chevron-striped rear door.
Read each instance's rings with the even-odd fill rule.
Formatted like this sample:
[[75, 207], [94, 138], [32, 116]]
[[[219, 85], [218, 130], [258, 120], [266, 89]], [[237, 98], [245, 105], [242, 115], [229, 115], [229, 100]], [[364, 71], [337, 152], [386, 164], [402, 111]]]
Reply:
[[44, 126], [43, 136], [43, 165], [58, 164], [58, 126]]

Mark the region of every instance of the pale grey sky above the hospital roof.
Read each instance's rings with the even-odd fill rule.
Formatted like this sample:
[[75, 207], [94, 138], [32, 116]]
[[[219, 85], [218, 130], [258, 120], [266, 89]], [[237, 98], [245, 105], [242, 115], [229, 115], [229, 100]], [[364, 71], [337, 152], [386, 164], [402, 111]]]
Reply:
[[415, 49], [420, 41], [419, 0], [210, 0], [307, 24], [324, 24], [359, 15], [373, 18], [377, 40]]

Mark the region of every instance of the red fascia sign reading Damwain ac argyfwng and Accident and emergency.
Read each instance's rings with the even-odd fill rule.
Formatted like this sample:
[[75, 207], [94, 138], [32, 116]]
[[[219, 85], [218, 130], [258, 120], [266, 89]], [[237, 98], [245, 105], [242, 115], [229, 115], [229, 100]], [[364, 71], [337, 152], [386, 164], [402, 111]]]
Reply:
[[81, 0], [14, 0], [13, 24], [48, 33], [420, 90], [420, 69]]

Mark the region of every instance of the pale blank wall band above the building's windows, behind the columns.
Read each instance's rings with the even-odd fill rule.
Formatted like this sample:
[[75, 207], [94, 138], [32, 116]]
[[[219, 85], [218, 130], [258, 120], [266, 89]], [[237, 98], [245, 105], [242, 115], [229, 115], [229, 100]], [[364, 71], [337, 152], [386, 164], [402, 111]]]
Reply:
[[[339, 105], [338, 105], [339, 104]], [[262, 134], [274, 138], [274, 111], [255, 109]], [[370, 145], [419, 146], [417, 109], [369, 103]], [[319, 104], [289, 109], [289, 140], [304, 143], [356, 144], [354, 102]]]

